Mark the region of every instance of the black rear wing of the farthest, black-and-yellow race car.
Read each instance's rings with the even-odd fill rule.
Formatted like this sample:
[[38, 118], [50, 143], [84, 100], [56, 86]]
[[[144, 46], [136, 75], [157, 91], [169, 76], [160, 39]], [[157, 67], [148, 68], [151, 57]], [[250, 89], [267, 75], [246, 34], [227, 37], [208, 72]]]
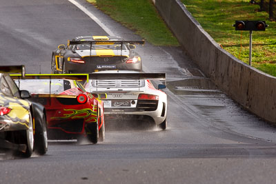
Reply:
[[83, 41], [70, 41], [68, 40], [68, 45], [79, 45], [79, 44], [104, 44], [104, 43], [112, 43], [112, 44], [121, 44], [123, 45], [124, 43], [130, 43], [130, 44], [141, 44], [144, 45], [145, 41], [128, 41], [128, 40], [122, 40], [122, 41], [110, 41], [110, 40], [98, 40], [98, 41], [87, 41], [87, 40], [83, 40]]

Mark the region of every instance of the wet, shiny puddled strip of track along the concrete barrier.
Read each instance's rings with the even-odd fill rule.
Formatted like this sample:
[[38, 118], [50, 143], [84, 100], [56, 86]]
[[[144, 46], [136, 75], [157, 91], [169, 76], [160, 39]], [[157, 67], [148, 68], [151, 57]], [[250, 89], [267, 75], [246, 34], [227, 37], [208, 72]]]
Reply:
[[206, 119], [206, 123], [222, 130], [276, 142], [275, 128], [243, 110], [210, 79], [194, 76], [179, 81], [167, 81], [167, 87], [177, 94], [190, 110]]

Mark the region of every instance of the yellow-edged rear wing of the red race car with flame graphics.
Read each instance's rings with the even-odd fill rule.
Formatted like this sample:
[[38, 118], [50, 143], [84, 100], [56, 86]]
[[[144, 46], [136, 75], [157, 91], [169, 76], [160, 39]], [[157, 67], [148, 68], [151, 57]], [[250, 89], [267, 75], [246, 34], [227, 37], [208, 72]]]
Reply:
[[10, 74], [12, 79], [72, 79], [88, 81], [88, 74]]

